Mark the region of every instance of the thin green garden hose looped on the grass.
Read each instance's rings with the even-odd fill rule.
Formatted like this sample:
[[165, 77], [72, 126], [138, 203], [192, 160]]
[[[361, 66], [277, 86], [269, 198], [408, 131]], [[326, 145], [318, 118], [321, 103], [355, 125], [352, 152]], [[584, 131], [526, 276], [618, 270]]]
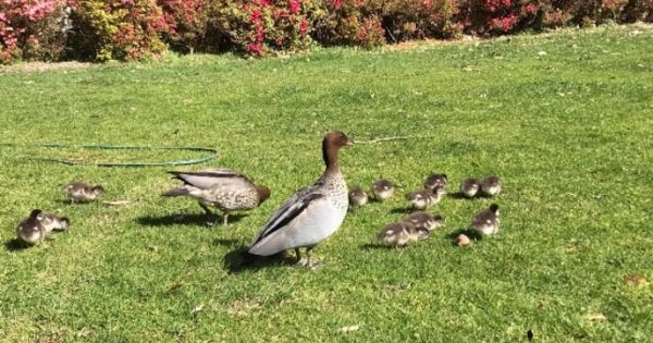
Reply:
[[[165, 166], [189, 166], [199, 164], [218, 157], [218, 150], [211, 148], [199, 148], [199, 147], [149, 147], [149, 146], [116, 146], [116, 145], [100, 145], [100, 144], [85, 144], [85, 145], [70, 145], [70, 144], [35, 144], [35, 145], [19, 145], [12, 143], [2, 143], [0, 147], [38, 147], [38, 148], [82, 148], [82, 149], [101, 149], [101, 150], [185, 150], [185, 151], [201, 151], [207, 152], [207, 156], [189, 160], [178, 161], [163, 161], [163, 162], [86, 162], [65, 160], [44, 156], [9, 156], [10, 158], [28, 159], [61, 163], [66, 166], [97, 166], [97, 167], [165, 167]], [[0, 154], [0, 156], [3, 156]]]

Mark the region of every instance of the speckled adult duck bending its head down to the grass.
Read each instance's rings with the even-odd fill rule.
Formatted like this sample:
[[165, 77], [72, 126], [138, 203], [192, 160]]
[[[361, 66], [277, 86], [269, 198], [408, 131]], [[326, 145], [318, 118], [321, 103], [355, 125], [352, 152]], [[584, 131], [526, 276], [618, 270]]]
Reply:
[[255, 185], [245, 175], [229, 169], [207, 169], [198, 172], [169, 172], [184, 183], [182, 187], [163, 193], [163, 196], [189, 196], [205, 210], [209, 224], [213, 212], [209, 206], [222, 211], [222, 222], [229, 224], [229, 215], [257, 208], [270, 197], [270, 189]]

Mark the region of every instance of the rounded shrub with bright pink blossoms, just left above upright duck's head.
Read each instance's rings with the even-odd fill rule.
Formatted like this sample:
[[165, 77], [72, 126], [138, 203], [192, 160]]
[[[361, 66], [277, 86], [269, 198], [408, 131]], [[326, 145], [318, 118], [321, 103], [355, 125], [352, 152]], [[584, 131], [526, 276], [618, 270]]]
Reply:
[[220, 0], [213, 9], [217, 26], [254, 57], [308, 49], [319, 16], [312, 0]]

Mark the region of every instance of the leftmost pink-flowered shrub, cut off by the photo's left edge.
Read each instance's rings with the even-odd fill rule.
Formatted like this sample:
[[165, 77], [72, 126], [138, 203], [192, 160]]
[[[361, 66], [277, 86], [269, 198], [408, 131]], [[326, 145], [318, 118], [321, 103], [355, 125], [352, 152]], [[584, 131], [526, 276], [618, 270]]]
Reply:
[[0, 0], [0, 63], [58, 60], [66, 30], [64, 0]]

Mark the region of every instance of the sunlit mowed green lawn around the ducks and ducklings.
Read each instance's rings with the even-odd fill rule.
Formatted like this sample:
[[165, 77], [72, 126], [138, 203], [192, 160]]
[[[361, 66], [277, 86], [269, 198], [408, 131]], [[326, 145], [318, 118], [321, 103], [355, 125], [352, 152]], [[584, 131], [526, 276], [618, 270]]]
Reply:
[[[289, 59], [171, 58], [152, 64], [0, 70], [1, 143], [205, 146], [272, 197], [209, 229], [190, 199], [162, 198], [165, 168], [65, 167], [0, 152], [0, 341], [651, 341], [653, 30], [565, 30], [480, 44]], [[322, 268], [232, 271], [274, 209], [323, 170], [331, 130], [350, 187], [394, 180], [389, 203], [350, 211], [315, 250]], [[429, 136], [429, 137], [423, 137]], [[194, 154], [34, 150], [170, 160]], [[196, 170], [208, 166], [178, 168]], [[377, 232], [430, 172], [497, 174], [495, 199], [446, 197], [446, 225], [403, 252]], [[59, 184], [97, 182], [110, 207], [71, 206]], [[448, 236], [496, 201], [502, 226], [468, 248]], [[16, 249], [33, 208], [70, 232]], [[183, 216], [183, 217], [180, 217]], [[342, 330], [343, 328], [348, 328]]]

